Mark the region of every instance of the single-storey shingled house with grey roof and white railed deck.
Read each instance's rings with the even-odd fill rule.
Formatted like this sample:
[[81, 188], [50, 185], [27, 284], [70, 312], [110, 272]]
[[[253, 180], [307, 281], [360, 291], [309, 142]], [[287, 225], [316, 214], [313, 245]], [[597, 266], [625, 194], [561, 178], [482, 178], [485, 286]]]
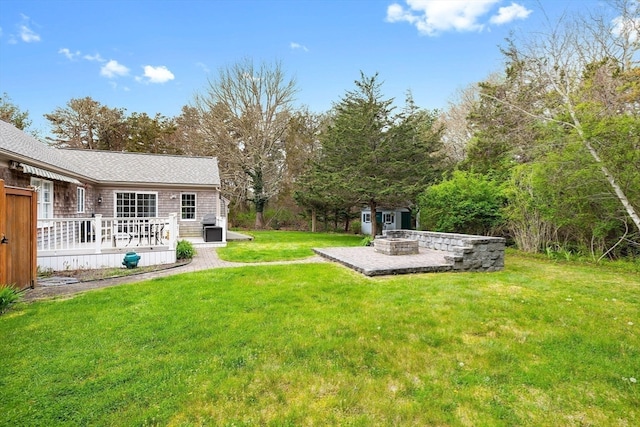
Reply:
[[226, 244], [215, 157], [58, 149], [0, 121], [0, 179], [38, 193], [38, 266], [53, 270], [175, 262], [178, 238]]

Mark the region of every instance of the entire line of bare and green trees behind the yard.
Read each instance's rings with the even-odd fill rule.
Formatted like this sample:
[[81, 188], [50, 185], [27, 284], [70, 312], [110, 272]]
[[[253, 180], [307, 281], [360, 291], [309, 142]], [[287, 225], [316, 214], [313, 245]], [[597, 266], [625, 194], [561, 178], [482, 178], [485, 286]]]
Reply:
[[[638, 255], [640, 5], [612, 0], [501, 47], [504, 70], [444, 111], [361, 73], [330, 111], [294, 108], [282, 64], [223, 68], [178, 117], [91, 98], [45, 117], [66, 148], [216, 156], [254, 226], [267, 206], [348, 230], [362, 207], [406, 207], [424, 229], [506, 236], [526, 251]], [[0, 118], [28, 126], [8, 101]]]

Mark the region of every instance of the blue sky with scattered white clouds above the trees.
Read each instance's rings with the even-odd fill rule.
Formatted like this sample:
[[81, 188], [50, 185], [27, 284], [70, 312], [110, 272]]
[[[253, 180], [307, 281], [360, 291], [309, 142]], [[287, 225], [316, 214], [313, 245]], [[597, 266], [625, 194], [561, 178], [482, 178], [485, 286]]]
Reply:
[[444, 109], [456, 90], [502, 69], [510, 31], [598, 7], [562, 0], [2, 0], [0, 93], [43, 114], [90, 96], [128, 113], [176, 116], [221, 67], [280, 61], [297, 104], [322, 112], [379, 73], [386, 98], [411, 91]]

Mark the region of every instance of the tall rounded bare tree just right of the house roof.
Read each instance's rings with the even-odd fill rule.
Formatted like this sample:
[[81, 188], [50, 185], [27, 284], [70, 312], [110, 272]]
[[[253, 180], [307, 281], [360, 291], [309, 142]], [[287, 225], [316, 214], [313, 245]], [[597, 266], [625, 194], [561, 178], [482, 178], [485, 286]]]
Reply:
[[245, 59], [221, 69], [196, 96], [222, 179], [246, 192], [255, 206], [256, 228], [264, 226], [265, 206], [279, 190], [295, 93], [295, 80], [285, 77], [280, 63], [256, 67]]

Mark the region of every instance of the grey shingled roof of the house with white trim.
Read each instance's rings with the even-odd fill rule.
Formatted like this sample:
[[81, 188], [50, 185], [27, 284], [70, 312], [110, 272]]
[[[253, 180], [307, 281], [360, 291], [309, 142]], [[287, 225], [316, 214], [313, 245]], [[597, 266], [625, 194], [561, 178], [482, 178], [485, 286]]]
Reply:
[[0, 154], [100, 184], [219, 186], [215, 157], [58, 149], [0, 120]]

